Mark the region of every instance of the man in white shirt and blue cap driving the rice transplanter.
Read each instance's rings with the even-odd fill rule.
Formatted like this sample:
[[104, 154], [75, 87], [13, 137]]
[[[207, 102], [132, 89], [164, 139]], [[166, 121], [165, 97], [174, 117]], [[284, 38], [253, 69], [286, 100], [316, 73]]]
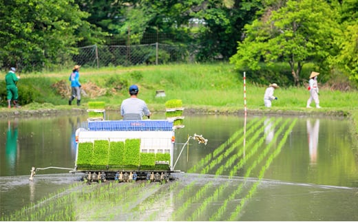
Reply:
[[130, 98], [123, 100], [120, 104], [120, 115], [123, 119], [126, 119], [126, 115], [137, 115], [137, 119], [143, 119], [143, 115], [146, 115], [148, 118], [151, 115], [147, 104], [138, 98], [138, 87], [136, 85], [131, 85], [129, 87]]

